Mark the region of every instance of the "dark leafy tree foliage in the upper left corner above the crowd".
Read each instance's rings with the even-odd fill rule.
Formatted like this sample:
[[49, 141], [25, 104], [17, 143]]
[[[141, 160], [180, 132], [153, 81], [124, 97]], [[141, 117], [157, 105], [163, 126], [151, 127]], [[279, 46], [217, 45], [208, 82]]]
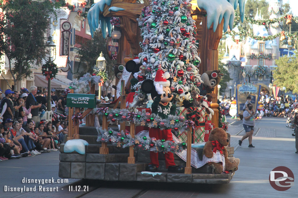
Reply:
[[15, 0], [2, 4], [0, 16], [0, 55], [6, 55], [14, 85], [30, 77], [32, 65], [46, 58], [44, 35], [48, 18], [59, 2]]

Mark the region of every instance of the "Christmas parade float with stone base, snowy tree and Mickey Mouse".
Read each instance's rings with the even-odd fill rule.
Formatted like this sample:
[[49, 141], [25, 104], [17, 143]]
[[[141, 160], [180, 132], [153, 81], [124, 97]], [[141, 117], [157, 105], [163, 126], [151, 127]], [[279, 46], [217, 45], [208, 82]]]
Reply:
[[[111, 57], [118, 62], [116, 98], [96, 103], [101, 78], [95, 73], [70, 84], [59, 177], [229, 183], [239, 159], [229, 158], [234, 148], [228, 147], [227, 123], [218, 110], [217, 48], [223, 30], [233, 26], [237, 5], [226, 0], [92, 5], [91, 34], [98, 20], [109, 34], [112, 24], [121, 31], [119, 51]], [[239, 5], [243, 19], [244, 1]], [[80, 126], [83, 118], [86, 126]]]

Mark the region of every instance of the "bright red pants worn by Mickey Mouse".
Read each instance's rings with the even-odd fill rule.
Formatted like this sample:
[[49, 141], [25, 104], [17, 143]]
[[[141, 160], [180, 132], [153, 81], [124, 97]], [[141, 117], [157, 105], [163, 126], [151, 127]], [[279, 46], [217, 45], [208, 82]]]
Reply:
[[[156, 140], [161, 140], [161, 139], [173, 140], [171, 129], [160, 130], [160, 129], [149, 128], [149, 137], [155, 137]], [[174, 162], [173, 153], [171, 152], [164, 153], [164, 158], [166, 162], [166, 168], [168, 168], [169, 166], [176, 165]], [[150, 151], [150, 160], [151, 160], [150, 164], [153, 164], [156, 167], [159, 167], [158, 153]]]

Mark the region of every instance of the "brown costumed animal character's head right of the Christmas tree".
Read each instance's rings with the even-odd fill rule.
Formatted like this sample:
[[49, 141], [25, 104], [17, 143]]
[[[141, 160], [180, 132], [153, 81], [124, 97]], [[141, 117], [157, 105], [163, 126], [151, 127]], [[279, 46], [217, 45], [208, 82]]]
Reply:
[[212, 91], [214, 91], [214, 87], [219, 84], [221, 77], [223, 76], [220, 72], [221, 70], [206, 71], [201, 75], [203, 83], [198, 86], [201, 96], [211, 94]]

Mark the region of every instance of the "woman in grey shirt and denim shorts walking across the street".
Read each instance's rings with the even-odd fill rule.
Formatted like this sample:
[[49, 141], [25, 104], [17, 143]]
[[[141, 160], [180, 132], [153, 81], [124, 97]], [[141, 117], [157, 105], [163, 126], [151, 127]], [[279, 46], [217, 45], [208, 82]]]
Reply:
[[[252, 104], [248, 104], [247, 107], [250, 111], [252, 110]], [[255, 124], [254, 112], [250, 114], [248, 111], [245, 110], [243, 112], [243, 127], [246, 134], [243, 135], [241, 140], [239, 140], [240, 146], [242, 144], [242, 141], [248, 138], [248, 141], [249, 141], [248, 147], [254, 148], [254, 146], [252, 145], [252, 134], [254, 133], [254, 124]]]

